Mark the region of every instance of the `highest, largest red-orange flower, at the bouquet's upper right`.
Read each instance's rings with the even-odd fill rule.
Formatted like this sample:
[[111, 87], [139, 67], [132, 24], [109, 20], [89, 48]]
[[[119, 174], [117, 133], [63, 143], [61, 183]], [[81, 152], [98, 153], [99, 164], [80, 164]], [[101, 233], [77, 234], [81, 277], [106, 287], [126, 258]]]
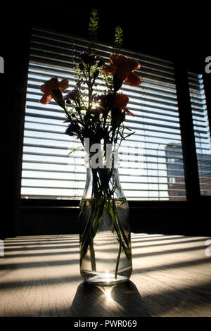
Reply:
[[141, 68], [141, 64], [137, 61], [128, 58], [125, 55], [110, 55], [110, 65], [102, 70], [108, 73], [113, 73], [120, 80], [124, 80], [125, 84], [138, 86], [141, 84], [140, 78], [134, 73], [134, 70]]

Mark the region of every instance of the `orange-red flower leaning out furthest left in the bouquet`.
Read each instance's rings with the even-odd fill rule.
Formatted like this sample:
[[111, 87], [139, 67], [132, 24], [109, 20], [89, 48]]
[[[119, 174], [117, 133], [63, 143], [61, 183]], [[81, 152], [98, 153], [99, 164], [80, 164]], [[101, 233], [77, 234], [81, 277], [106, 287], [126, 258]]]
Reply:
[[68, 88], [68, 80], [63, 79], [58, 82], [58, 78], [54, 77], [51, 80], [44, 82], [44, 85], [41, 85], [40, 90], [44, 93], [44, 96], [40, 99], [41, 104], [49, 104], [53, 98], [53, 89], [58, 89], [60, 92], [65, 91]]

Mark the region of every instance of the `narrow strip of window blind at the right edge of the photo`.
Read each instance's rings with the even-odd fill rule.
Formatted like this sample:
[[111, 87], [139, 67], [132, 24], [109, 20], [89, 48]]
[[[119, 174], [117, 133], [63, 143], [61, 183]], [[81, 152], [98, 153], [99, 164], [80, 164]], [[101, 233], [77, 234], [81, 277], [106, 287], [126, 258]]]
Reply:
[[203, 75], [188, 73], [200, 194], [211, 194], [211, 139]]

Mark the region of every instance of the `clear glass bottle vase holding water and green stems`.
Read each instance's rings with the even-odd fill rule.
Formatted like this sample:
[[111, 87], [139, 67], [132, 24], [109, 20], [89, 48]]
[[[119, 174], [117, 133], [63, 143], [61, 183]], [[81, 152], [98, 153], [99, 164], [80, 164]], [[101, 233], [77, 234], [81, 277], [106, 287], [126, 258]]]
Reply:
[[91, 157], [85, 158], [87, 181], [79, 206], [80, 273], [85, 282], [114, 285], [132, 273], [129, 207], [114, 154], [110, 166], [93, 167]]

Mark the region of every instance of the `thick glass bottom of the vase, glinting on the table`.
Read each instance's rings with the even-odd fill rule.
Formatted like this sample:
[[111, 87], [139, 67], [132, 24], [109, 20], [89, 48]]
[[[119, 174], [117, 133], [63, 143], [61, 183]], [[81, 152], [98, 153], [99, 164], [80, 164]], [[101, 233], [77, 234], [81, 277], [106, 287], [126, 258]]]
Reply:
[[[125, 271], [126, 270], [124, 270], [124, 273]], [[127, 282], [131, 273], [132, 268], [127, 269], [127, 275], [117, 275], [117, 277], [115, 277], [114, 273], [89, 273], [87, 271], [82, 271], [81, 275], [84, 278], [84, 281], [89, 284], [110, 286], [118, 284], [120, 282]]]

